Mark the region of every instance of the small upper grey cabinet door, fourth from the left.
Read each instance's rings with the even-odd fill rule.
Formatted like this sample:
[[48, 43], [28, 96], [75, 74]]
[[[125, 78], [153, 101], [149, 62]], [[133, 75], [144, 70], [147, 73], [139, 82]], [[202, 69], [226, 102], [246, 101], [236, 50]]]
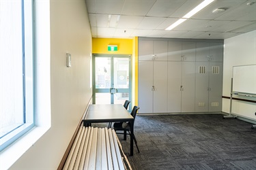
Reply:
[[195, 42], [182, 42], [183, 61], [195, 61]]

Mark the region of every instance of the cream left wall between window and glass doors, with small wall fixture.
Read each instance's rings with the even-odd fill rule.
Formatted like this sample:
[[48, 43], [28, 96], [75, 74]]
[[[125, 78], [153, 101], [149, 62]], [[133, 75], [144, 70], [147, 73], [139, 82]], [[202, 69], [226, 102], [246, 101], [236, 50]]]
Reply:
[[[50, 9], [51, 129], [11, 169], [57, 169], [91, 97], [91, 31], [85, 1], [51, 0]], [[72, 56], [70, 68], [66, 52]]]

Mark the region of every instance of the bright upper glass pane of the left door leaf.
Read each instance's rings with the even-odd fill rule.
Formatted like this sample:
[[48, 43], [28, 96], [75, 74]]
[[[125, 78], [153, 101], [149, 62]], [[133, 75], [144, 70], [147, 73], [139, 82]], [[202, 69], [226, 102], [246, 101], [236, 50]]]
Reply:
[[111, 88], [111, 58], [95, 58], [95, 88]]

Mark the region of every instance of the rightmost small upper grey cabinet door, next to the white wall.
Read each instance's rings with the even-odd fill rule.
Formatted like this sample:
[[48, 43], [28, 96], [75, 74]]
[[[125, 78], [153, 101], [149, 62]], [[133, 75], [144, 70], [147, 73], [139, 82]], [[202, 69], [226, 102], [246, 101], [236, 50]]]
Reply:
[[223, 43], [210, 43], [210, 61], [223, 61]]

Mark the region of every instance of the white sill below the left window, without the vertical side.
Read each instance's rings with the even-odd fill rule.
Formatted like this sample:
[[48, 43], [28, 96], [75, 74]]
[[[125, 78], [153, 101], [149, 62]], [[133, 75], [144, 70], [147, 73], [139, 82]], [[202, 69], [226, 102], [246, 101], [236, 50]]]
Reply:
[[[9, 169], [33, 144], [50, 129], [48, 127], [35, 126], [31, 131], [20, 137], [0, 153], [0, 169]], [[15, 153], [15, 154], [14, 154]]]

